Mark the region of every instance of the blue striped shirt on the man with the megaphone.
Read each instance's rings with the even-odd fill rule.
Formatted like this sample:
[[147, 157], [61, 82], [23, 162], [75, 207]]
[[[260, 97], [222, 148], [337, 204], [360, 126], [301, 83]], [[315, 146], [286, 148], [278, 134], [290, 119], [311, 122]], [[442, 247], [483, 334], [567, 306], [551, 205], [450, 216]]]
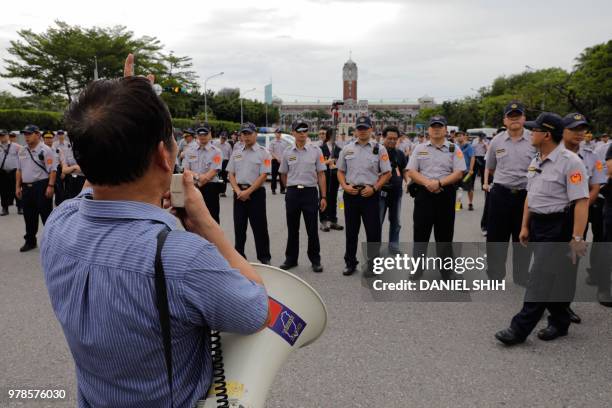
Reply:
[[174, 406], [193, 407], [210, 386], [209, 328], [249, 334], [264, 324], [263, 287], [210, 242], [175, 231], [168, 212], [91, 195], [67, 201], [45, 225], [41, 261], [75, 360], [79, 407], [170, 406], [154, 280], [156, 237], [166, 226]]

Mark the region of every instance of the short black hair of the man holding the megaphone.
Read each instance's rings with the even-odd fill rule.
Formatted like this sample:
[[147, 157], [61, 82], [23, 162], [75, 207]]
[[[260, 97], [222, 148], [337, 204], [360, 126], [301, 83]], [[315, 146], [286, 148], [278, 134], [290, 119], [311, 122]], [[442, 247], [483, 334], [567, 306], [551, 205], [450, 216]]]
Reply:
[[159, 142], [170, 149], [173, 137], [168, 107], [144, 77], [91, 82], [64, 122], [77, 163], [97, 185], [142, 177]]

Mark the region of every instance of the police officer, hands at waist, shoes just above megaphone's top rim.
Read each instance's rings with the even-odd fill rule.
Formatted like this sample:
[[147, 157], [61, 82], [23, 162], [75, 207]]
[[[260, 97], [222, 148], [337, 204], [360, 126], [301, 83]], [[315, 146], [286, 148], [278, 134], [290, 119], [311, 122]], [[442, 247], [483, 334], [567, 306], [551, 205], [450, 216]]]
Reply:
[[257, 144], [257, 127], [244, 123], [240, 129], [243, 141], [234, 146], [227, 165], [230, 184], [234, 190], [234, 237], [236, 251], [244, 254], [247, 224], [251, 224], [255, 236], [255, 251], [259, 262], [269, 265], [270, 236], [266, 215], [266, 189], [263, 184], [270, 173], [271, 157]]

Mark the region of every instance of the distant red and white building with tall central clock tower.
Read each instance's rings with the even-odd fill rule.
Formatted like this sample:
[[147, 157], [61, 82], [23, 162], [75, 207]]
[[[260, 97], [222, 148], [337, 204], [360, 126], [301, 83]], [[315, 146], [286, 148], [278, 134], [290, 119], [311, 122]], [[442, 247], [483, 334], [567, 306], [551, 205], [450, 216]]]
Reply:
[[[384, 126], [395, 125], [404, 132], [415, 130], [414, 118], [421, 108], [434, 107], [436, 103], [432, 97], [423, 96], [416, 102], [402, 100], [400, 102], [390, 101], [368, 101], [359, 99], [358, 69], [357, 64], [349, 58], [342, 67], [342, 101], [344, 105], [339, 107], [338, 133], [348, 134], [349, 129], [355, 124], [360, 116], [369, 115], [377, 132], [382, 131]], [[331, 118], [322, 118], [317, 112], [325, 112], [331, 115], [331, 102], [287, 102], [276, 99], [280, 106], [281, 121], [286, 127], [296, 119], [308, 122], [312, 130], [321, 126], [332, 125]]]

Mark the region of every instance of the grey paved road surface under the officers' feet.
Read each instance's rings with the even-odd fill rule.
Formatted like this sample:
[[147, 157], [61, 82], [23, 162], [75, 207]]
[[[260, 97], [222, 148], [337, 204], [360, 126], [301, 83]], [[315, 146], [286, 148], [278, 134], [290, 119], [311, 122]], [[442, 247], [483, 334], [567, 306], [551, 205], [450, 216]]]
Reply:
[[[276, 265], [283, 261], [286, 238], [283, 197], [268, 197]], [[458, 214], [457, 241], [483, 239], [480, 193], [475, 205], [475, 212]], [[412, 202], [404, 200], [403, 241], [411, 239], [411, 214]], [[342, 215], [340, 219], [342, 223]], [[231, 198], [222, 199], [221, 223], [232, 237]], [[0, 389], [65, 388], [74, 398], [73, 362], [49, 304], [39, 252], [18, 252], [23, 229], [23, 219], [15, 214], [0, 218]], [[576, 304], [584, 323], [572, 326], [566, 338], [543, 343], [532, 336], [525, 344], [506, 349], [493, 333], [508, 324], [520, 299], [516, 304], [373, 302], [358, 276], [341, 275], [344, 232], [321, 233], [322, 274], [310, 271], [302, 232], [302, 265], [294, 271], [325, 300], [329, 324], [316, 343], [296, 351], [278, 373], [267, 407], [612, 404], [609, 309]], [[247, 256], [256, 259], [250, 233]], [[74, 402], [49, 406], [74, 406]]]

